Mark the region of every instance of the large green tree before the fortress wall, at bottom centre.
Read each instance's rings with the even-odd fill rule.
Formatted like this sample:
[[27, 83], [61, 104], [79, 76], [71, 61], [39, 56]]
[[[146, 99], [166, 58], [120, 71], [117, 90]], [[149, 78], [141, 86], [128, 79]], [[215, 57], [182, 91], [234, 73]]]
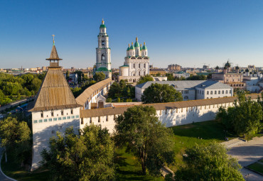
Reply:
[[173, 163], [173, 133], [161, 124], [153, 106], [132, 106], [115, 121], [116, 143], [135, 154], [144, 175], [146, 170], [151, 175], [160, 175], [165, 163]]

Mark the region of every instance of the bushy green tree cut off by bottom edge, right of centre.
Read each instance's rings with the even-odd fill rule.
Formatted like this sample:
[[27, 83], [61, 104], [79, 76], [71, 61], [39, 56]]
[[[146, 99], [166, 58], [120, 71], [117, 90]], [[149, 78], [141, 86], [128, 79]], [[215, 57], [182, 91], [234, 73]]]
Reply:
[[175, 180], [244, 180], [237, 159], [227, 155], [220, 143], [195, 144], [187, 148], [183, 162]]

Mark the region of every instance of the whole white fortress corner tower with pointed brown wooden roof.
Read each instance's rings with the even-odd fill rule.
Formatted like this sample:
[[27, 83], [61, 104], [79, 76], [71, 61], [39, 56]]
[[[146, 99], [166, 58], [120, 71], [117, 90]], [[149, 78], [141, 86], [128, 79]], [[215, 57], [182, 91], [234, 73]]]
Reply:
[[[48, 148], [49, 139], [57, 131], [65, 132], [65, 128], [80, 128], [80, 106], [75, 101], [68, 82], [63, 75], [57, 50], [53, 43], [48, 72], [43, 84], [28, 110], [32, 114], [33, 158], [31, 170], [36, 170], [41, 161], [41, 151]], [[53, 62], [52, 62], [53, 61]]]

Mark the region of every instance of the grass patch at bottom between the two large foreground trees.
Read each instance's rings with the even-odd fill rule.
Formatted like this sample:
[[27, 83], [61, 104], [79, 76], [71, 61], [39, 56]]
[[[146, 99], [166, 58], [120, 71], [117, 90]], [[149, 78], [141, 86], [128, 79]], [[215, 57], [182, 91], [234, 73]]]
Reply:
[[117, 180], [164, 180], [163, 177], [141, 175], [141, 165], [132, 153], [125, 153], [125, 148], [118, 148], [117, 154]]

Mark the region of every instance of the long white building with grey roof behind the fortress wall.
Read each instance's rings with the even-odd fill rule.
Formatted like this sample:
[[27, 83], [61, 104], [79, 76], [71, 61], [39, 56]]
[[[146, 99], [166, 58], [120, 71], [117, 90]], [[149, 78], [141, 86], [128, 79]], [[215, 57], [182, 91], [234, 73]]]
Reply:
[[212, 99], [218, 97], [232, 97], [233, 88], [227, 84], [212, 80], [181, 80], [181, 81], [149, 81], [136, 85], [135, 97], [141, 101], [141, 95], [151, 84], [169, 84], [182, 93], [183, 101], [195, 99]]

